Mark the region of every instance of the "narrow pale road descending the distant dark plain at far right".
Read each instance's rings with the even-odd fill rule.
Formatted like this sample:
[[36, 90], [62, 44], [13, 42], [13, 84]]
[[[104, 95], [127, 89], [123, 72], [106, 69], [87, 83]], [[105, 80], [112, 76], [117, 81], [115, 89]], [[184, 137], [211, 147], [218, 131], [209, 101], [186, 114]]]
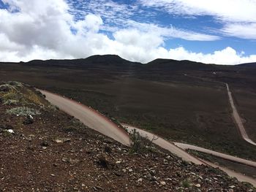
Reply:
[[230, 91], [230, 88], [228, 86], [228, 84], [226, 83], [226, 87], [227, 87], [227, 94], [228, 94], [228, 99], [230, 101], [230, 105], [232, 107], [232, 110], [233, 110], [233, 119], [235, 120], [235, 123], [236, 125], [238, 126], [239, 128], [239, 131], [241, 133], [241, 136], [243, 137], [243, 139], [246, 141], [246, 142], [249, 142], [250, 144], [252, 145], [255, 145], [256, 146], [256, 143], [252, 141], [252, 139], [249, 139], [249, 136], [248, 134], [246, 133], [246, 130], [244, 128], [244, 125], [242, 123], [242, 120], [240, 118], [240, 115], [238, 113], [238, 110], [236, 110], [236, 106], [234, 104], [234, 101], [233, 101], [233, 96], [232, 96], [232, 93]]

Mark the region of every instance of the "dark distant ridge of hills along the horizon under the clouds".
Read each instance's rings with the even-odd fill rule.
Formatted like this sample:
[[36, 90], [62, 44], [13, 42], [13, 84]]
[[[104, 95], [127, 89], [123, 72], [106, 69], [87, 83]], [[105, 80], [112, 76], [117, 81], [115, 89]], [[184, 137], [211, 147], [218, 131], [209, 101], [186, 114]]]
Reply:
[[[14, 63], [0, 63], [0, 64], [14, 64]], [[67, 68], [93, 68], [93, 69], [108, 69], [108, 70], [135, 70], [139, 71], [158, 71], [158, 72], [173, 72], [173, 71], [248, 71], [256, 69], [256, 63], [239, 64], [236, 66], [225, 66], [217, 64], [203, 64], [195, 61], [177, 61], [173, 59], [157, 58], [147, 64], [139, 62], [128, 61], [118, 55], [92, 55], [88, 58], [79, 59], [61, 59], [61, 60], [33, 60], [29, 62], [20, 62], [25, 66], [55, 66]], [[253, 71], [254, 71], [253, 70]]]

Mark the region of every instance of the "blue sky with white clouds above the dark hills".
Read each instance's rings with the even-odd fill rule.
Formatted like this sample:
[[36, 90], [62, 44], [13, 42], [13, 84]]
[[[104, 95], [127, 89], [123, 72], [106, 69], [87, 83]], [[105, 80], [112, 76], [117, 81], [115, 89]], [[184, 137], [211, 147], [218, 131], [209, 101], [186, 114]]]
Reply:
[[0, 0], [0, 61], [256, 62], [256, 0]]

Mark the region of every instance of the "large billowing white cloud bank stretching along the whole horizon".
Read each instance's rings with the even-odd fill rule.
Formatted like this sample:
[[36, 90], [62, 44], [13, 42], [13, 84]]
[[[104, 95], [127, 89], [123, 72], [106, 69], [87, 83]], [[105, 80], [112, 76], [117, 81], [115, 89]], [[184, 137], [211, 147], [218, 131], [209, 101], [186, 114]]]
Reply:
[[[212, 54], [193, 53], [184, 47], [170, 50], [165, 48], [165, 40], [172, 38], [189, 41], [220, 39], [209, 34], [174, 26], [139, 23], [131, 19], [125, 21], [123, 28], [105, 24], [104, 17], [115, 18], [113, 12], [116, 9], [117, 12], [126, 9], [113, 1], [109, 1], [109, 9], [113, 9], [113, 12], [108, 13], [110, 15], [105, 13], [102, 16], [98, 10], [80, 19], [70, 13], [72, 7], [64, 0], [2, 1], [10, 7], [0, 9], [0, 61], [86, 58], [96, 54], [116, 54], [143, 63], [155, 58], [189, 59], [216, 64], [256, 61], [256, 55], [244, 56], [231, 47]], [[127, 14], [132, 12], [128, 11]], [[228, 29], [225, 33], [232, 33], [233, 30]], [[108, 31], [111, 35], [102, 31]]]

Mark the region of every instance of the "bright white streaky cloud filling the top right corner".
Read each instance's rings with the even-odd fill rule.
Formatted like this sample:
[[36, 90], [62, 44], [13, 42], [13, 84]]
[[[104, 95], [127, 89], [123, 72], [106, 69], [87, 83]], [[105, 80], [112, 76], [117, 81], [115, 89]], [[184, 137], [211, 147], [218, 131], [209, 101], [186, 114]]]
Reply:
[[232, 22], [256, 21], [255, 0], [140, 0], [140, 3], [178, 15], [212, 15]]

